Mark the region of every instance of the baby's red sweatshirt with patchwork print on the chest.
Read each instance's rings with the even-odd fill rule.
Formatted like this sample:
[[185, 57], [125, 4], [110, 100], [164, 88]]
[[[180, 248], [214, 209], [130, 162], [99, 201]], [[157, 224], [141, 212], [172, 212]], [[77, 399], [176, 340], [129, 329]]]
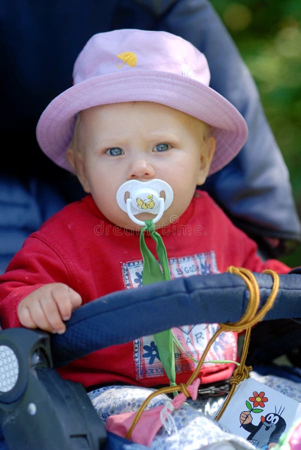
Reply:
[[[159, 230], [171, 277], [223, 272], [229, 265], [260, 272], [289, 268], [276, 260], [262, 262], [256, 244], [237, 229], [206, 192], [196, 191], [176, 223]], [[145, 236], [155, 254], [155, 244]], [[5, 327], [21, 326], [19, 302], [45, 283], [62, 282], [76, 290], [83, 303], [115, 290], [141, 285], [139, 236], [108, 222], [87, 195], [48, 219], [31, 234], [0, 276], [0, 317]], [[173, 328], [186, 351], [199, 359], [216, 324]], [[236, 359], [236, 335], [221, 333], [207, 360]], [[176, 381], [185, 382], [196, 363], [175, 347]], [[206, 363], [201, 382], [226, 379], [233, 364]], [[153, 336], [114, 345], [77, 359], [59, 369], [62, 376], [92, 386], [116, 381], [142, 386], [168, 384]]]

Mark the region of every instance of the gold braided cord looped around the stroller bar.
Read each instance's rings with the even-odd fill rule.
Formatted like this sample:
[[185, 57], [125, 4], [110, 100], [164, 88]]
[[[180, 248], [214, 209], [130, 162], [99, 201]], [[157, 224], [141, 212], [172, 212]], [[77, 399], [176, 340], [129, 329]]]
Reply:
[[219, 418], [223, 414], [225, 408], [227, 407], [227, 405], [236, 389], [237, 384], [240, 381], [249, 377], [249, 371], [252, 369], [252, 367], [245, 365], [245, 359], [246, 359], [246, 355], [247, 355], [247, 351], [248, 351], [251, 327], [258, 321], [262, 320], [262, 318], [266, 314], [266, 312], [272, 307], [273, 302], [274, 302], [277, 292], [278, 292], [278, 288], [279, 288], [279, 276], [276, 272], [274, 272], [273, 270], [270, 270], [270, 269], [266, 269], [262, 272], [262, 273], [268, 273], [269, 275], [272, 276], [273, 285], [272, 285], [270, 295], [267, 298], [265, 304], [257, 312], [259, 302], [260, 302], [260, 294], [259, 294], [258, 283], [257, 283], [256, 278], [253, 275], [253, 273], [250, 270], [245, 269], [243, 267], [238, 268], [238, 267], [234, 267], [234, 266], [229, 266], [227, 271], [240, 276], [244, 280], [244, 282], [248, 288], [249, 299], [248, 299], [247, 307], [246, 307], [246, 310], [245, 310], [243, 316], [237, 322], [234, 322], [234, 323], [230, 323], [230, 322], [219, 323], [219, 328], [215, 331], [213, 336], [208, 341], [206, 348], [204, 349], [204, 352], [203, 352], [197, 366], [195, 367], [195, 370], [193, 371], [193, 373], [191, 374], [191, 376], [189, 377], [189, 379], [187, 380], [187, 382], [185, 384], [180, 383], [179, 385], [175, 384], [172, 386], [166, 386], [166, 387], [157, 389], [156, 391], [152, 392], [143, 401], [143, 403], [139, 407], [138, 411], [136, 412], [136, 415], [133, 419], [133, 422], [132, 422], [129, 430], [126, 433], [125, 437], [127, 439], [130, 437], [132, 430], [134, 429], [135, 425], [137, 424], [147, 403], [153, 397], [155, 397], [156, 395], [159, 395], [161, 393], [171, 393], [171, 392], [175, 392], [177, 390], [183, 392], [186, 397], [190, 396], [190, 394], [187, 390], [187, 386], [189, 384], [191, 384], [195, 380], [195, 378], [197, 378], [197, 376], [199, 374], [199, 370], [200, 370], [202, 364], [204, 363], [205, 357], [207, 355], [207, 352], [208, 352], [210, 346], [212, 345], [212, 343], [214, 342], [216, 337], [222, 331], [244, 331], [244, 330], [246, 330], [245, 336], [244, 336], [244, 343], [243, 343], [241, 358], [240, 358], [240, 364], [233, 371], [232, 377], [230, 379], [231, 389], [230, 389], [219, 413], [216, 415], [215, 420], [219, 420]]

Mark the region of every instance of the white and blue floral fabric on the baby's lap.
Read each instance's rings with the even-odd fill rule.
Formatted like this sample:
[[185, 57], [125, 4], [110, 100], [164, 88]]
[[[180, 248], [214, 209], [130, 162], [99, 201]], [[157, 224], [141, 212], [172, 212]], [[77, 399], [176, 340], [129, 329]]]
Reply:
[[[251, 372], [251, 376], [278, 390], [279, 392], [301, 401], [301, 383], [271, 375], [259, 375]], [[108, 416], [122, 412], [136, 411], [143, 400], [153, 389], [137, 386], [112, 385], [94, 389], [88, 396], [100, 419], [105, 423]], [[163, 404], [168, 397], [160, 394], [154, 397], [148, 407]], [[221, 427], [211, 417], [222, 404], [224, 397], [210, 397], [195, 401], [187, 401], [173, 412], [175, 428], [168, 434], [162, 426], [150, 448], [160, 450], [206, 450], [224, 449], [240, 450], [254, 447], [245, 439], [235, 436]]]

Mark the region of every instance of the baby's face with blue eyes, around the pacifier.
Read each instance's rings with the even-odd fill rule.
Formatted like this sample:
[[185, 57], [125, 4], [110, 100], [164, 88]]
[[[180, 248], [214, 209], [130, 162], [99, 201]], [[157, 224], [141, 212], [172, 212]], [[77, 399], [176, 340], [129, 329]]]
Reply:
[[[127, 180], [160, 178], [174, 198], [156, 226], [176, 220], [187, 208], [196, 184], [208, 173], [214, 139], [194, 117], [159, 103], [129, 102], [95, 106], [80, 113], [70, 162], [86, 192], [115, 225], [139, 229], [116, 202]], [[140, 220], [153, 218], [149, 213]]]

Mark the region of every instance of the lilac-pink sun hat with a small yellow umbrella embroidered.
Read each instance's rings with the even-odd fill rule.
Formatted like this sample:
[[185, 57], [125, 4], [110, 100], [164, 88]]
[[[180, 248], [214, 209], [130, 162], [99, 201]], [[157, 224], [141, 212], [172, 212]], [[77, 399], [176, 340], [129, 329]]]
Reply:
[[209, 87], [205, 56], [190, 42], [165, 31], [117, 29], [94, 34], [74, 64], [73, 86], [41, 114], [36, 137], [57, 165], [66, 158], [76, 114], [91, 106], [152, 101], [190, 114], [212, 126], [216, 149], [210, 174], [241, 149], [247, 126], [237, 109]]

